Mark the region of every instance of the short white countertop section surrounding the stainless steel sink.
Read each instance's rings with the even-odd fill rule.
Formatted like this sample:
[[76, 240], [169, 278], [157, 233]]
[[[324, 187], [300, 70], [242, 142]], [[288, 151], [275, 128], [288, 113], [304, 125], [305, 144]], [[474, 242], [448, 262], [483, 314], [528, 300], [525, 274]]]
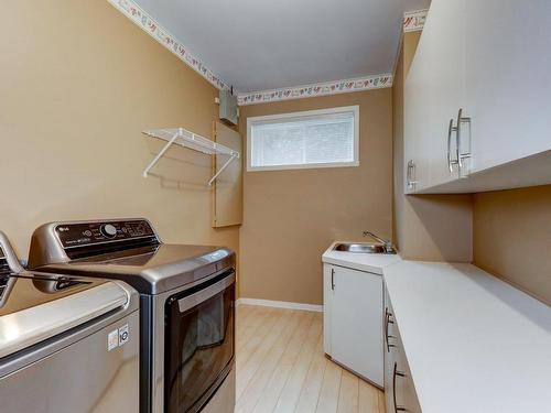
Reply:
[[398, 254], [333, 251], [335, 243], [341, 242], [344, 241], [335, 241], [327, 248], [322, 256], [323, 262], [382, 275], [382, 270], [386, 267], [401, 261]]

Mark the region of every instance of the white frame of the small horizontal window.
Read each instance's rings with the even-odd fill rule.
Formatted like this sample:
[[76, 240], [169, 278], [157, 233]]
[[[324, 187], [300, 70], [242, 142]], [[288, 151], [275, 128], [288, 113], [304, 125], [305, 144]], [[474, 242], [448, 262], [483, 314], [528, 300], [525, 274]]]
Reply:
[[[334, 115], [343, 112], [354, 113], [354, 160], [349, 162], [324, 162], [309, 164], [290, 164], [290, 165], [273, 165], [273, 166], [252, 166], [251, 165], [251, 127], [256, 122], [285, 120], [290, 118], [302, 118], [318, 115]], [[312, 170], [320, 167], [348, 167], [359, 166], [359, 106], [342, 106], [328, 109], [304, 110], [300, 112], [290, 112], [281, 115], [268, 115], [247, 118], [247, 172], [256, 171], [282, 171], [282, 170]]]

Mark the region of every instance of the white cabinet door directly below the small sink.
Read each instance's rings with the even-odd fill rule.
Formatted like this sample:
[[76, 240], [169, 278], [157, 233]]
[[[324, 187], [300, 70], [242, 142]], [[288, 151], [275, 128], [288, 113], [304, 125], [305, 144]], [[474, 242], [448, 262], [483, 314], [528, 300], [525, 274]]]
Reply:
[[332, 357], [382, 388], [382, 279], [342, 267], [334, 270]]

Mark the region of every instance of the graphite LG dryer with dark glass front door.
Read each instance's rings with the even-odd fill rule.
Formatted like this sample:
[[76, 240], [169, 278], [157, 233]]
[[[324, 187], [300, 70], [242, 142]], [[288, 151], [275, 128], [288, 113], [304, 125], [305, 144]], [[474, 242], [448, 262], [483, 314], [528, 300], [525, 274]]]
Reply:
[[145, 219], [51, 222], [34, 231], [29, 267], [139, 291], [142, 413], [234, 411], [233, 251], [163, 243]]

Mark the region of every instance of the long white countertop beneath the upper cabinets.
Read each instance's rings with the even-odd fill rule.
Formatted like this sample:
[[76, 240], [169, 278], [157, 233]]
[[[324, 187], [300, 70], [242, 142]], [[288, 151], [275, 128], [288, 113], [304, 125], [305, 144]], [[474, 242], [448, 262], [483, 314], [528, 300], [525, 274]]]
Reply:
[[471, 264], [383, 269], [423, 413], [551, 411], [551, 308]]

